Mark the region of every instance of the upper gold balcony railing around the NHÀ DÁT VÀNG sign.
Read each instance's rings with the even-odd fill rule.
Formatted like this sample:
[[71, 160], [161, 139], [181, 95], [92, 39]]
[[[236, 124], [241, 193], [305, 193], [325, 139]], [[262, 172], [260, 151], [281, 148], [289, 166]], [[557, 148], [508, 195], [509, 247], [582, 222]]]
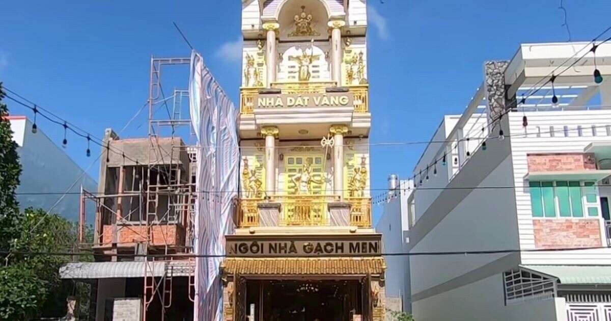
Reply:
[[[272, 83], [273, 89], [280, 89], [282, 94], [323, 94], [328, 87], [335, 87], [334, 81], [298, 81], [293, 83]], [[369, 112], [369, 85], [347, 86], [348, 92], [354, 95], [354, 113]], [[240, 112], [252, 114], [255, 97], [263, 87], [244, 87], [240, 89]]]

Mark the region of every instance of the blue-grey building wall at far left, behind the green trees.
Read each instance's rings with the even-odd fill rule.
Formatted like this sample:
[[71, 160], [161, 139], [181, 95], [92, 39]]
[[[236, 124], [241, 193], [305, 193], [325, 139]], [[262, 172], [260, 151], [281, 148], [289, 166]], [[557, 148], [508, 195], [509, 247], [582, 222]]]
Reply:
[[[37, 133], [32, 133], [32, 122], [25, 116], [7, 118], [13, 131], [13, 140], [18, 145], [17, 153], [22, 169], [20, 185], [16, 191], [19, 207], [22, 210], [27, 207], [43, 210], [53, 208], [51, 213], [78, 221], [81, 185], [86, 190], [95, 190], [95, 180], [84, 173], [40, 128]], [[70, 194], [66, 194], [57, 202], [62, 196], [61, 193], [66, 191]], [[93, 218], [92, 215], [88, 217]]]

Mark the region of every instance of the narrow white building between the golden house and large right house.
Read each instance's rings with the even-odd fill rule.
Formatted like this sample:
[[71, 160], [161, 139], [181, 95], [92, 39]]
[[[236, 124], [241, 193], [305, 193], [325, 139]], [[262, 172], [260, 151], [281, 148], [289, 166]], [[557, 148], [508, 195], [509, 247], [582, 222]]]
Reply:
[[[394, 174], [388, 180], [388, 196], [376, 232], [382, 234], [384, 253], [406, 253], [414, 181], [399, 180]], [[386, 256], [386, 305], [393, 311], [411, 312], [408, 256]]]

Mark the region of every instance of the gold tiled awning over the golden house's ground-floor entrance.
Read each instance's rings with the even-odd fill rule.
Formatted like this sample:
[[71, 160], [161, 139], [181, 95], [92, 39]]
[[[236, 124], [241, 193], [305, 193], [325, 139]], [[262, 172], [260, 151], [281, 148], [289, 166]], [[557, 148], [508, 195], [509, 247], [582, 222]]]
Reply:
[[251, 275], [378, 275], [386, 265], [383, 257], [229, 257], [222, 268]]

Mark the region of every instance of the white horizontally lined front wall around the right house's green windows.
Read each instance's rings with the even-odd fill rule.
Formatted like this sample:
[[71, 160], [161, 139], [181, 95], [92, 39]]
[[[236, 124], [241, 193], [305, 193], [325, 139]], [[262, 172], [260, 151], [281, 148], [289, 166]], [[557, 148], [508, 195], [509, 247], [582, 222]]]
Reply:
[[[522, 116], [526, 115], [529, 125], [524, 131]], [[534, 249], [535, 237], [532, 223], [530, 194], [525, 186], [528, 181], [527, 153], [584, 152], [584, 148], [595, 141], [611, 141], [607, 136], [606, 125], [611, 125], [611, 110], [584, 111], [532, 111], [509, 114], [509, 133], [513, 158], [513, 177], [516, 186], [516, 207], [519, 223], [520, 248]], [[568, 137], [563, 133], [569, 127]], [[577, 126], [582, 127], [583, 135], [577, 135]], [[592, 136], [591, 126], [595, 125], [596, 136]], [[554, 127], [554, 137], [550, 135]], [[541, 135], [538, 135], [538, 128]], [[527, 135], [523, 135], [526, 133]], [[540, 136], [540, 137], [537, 137]], [[599, 216], [602, 220], [602, 216]], [[601, 221], [602, 226], [602, 221]], [[601, 230], [601, 237], [604, 237]], [[602, 238], [604, 244], [605, 240]], [[563, 252], [522, 253], [523, 264], [611, 264], [611, 249], [590, 249]]]

